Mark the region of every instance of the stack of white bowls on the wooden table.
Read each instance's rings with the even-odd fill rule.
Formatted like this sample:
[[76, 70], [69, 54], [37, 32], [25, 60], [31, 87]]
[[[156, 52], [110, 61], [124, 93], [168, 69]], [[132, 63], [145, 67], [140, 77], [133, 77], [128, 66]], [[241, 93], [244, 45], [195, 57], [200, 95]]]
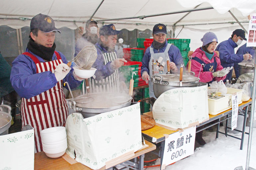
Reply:
[[47, 128], [40, 132], [43, 151], [48, 157], [58, 158], [67, 148], [66, 129], [63, 126]]

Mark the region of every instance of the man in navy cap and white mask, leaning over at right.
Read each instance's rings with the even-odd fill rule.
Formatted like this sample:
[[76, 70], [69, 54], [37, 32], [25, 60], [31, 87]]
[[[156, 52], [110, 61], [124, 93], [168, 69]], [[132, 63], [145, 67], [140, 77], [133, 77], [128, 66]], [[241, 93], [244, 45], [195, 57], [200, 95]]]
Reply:
[[[236, 29], [228, 40], [222, 41], [217, 46], [216, 50], [219, 51], [220, 64], [223, 68], [231, 66], [234, 67], [234, 64], [240, 63], [243, 60], [250, 60], [252, 58], [252, 55], [250, 54], [235, 54], [235, 47], [239, 46], [243, 40], [246, 40], [245, 31], [242, 29]], [[227, 74], [226, 79], [224, 79], [223, 82], [226, 82], [226, 80], [231, 81], [232, 71], [233, 70]], [[238, 67], [235, 67], [235, 73], [238, 73]]]

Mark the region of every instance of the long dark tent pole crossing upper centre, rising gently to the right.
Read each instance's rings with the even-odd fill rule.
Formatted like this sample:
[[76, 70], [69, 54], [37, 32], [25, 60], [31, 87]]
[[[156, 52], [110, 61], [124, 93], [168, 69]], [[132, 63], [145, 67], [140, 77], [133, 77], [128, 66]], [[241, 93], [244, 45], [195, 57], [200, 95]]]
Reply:
[[127, 20], [127, 19], [135, 19], [135, 18], [139, 18], [139, 19], [143, 20], [144, 18], [147, 18], [147, 17], [157, 17], [157, 16], [162, 16], [162, 15], [180, 14], [180, 13], [185, 13], [185, 12], [202, 11], [202, 10], [208, 10], [208, 9], [213, 9], [213, 7], [190, 9], [190, 10], [183, 10], [183, 11], [175, 11], [175, 12], [162, 13], [162, 14], [143, 15], [143, 16], [137, 16], [137, 17], [125, 17], [125, 18], [113, 18], [113, 19], [105, 19], [105, 20], [96, 20], [96, 21], [101, 22], [101, 21]]

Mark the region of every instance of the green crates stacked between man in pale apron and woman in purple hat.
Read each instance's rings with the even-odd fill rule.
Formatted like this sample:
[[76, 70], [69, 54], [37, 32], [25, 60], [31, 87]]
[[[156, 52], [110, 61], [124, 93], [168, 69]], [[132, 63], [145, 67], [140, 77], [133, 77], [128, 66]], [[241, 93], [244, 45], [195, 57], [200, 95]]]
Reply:
[[179, 48], [183, 58], [184, 66], [186, 67], [187, 63], [189, 62], [188, 53], [190, 51], [190, 39], [167, 39], [167, 42]]

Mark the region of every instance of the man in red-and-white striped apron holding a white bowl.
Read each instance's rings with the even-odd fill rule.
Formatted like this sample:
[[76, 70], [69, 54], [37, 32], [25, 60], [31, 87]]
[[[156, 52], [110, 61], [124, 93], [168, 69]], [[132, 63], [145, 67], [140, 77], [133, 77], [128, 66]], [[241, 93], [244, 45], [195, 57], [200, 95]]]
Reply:
[[35, 152], [43, 150], [40, 131], [65, 124], [68, 108], [63, 91], [64, 82], [71, 88], [81, 84], [69, 68], [65, 56], [55, 51], [54, 20], [38, 14], [30, 22], [30, 39], [26, 52], [12, 62], [10, 80], [22, 97], [22, 128], [31, 125], [35, 129]]

